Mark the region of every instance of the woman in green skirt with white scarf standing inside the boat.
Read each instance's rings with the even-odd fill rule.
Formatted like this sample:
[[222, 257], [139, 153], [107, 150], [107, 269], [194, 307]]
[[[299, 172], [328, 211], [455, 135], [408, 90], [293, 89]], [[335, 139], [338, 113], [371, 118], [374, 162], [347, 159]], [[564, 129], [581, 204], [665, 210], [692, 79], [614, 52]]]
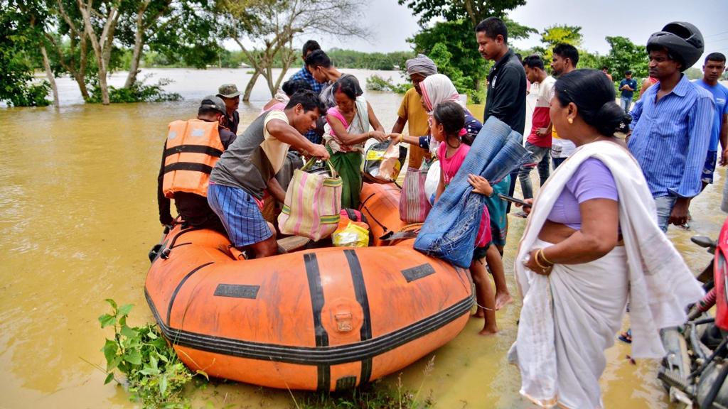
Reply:
[[326, 113], [324, 143], [331, 155], [331, 164], [343, 182], [341, 207], [356, 209], [362, 188], [364, 143], [369, 138], [387, 140], [387, 135], [371, 105], [357, 95], [359, 84], [354, 76], [342, 76], [331, 87], [336, 106]]

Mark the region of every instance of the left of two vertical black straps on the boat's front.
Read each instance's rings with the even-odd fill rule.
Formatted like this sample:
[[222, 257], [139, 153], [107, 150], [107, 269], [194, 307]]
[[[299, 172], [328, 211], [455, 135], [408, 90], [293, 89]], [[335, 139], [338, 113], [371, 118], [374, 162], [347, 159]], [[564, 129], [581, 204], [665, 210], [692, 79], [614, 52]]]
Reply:
[[[304, 254], [304, 265], [306, 266], [306, 277], [309, 280], [309, 293], [311, 293], [311, 309], [314, 314], [314, 333], [316, 334], [316, 347], [328, 346], [328, 333], [323, 327], [321, 310], [323, 310], [324, 298], [323, 287], [321, 286], [321, 274], [318, 268], [318, 261], [315, 253]], [[317, 365], [318, 380], [316, 389], [320, 392], [331, 389], [331, 365]]]

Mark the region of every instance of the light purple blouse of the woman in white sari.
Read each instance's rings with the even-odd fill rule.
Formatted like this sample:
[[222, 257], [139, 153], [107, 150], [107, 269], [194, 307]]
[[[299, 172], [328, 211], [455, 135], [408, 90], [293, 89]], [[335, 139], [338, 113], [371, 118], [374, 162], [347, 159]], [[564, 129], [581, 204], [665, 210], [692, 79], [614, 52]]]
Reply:
[[574, 230], [582, 228], [579, 204], [590, 199], [612, 199], [619, 202], [617, 183], [604, 162], [596, 158], [586, 159], [566, 182], [561, 195], [551, 208], [548, 220], [565, 224]]

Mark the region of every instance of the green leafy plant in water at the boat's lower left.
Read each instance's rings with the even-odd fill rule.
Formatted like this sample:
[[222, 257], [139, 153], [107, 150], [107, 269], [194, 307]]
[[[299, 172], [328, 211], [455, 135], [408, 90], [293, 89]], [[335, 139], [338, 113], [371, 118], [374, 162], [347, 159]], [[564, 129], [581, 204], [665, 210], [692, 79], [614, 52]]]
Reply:
[[[141, 402], [144, 408], [190, 408], [182, 392], [196, 374], [179, 360], [156, 325], [127, 325], [132, 304], [117, 306], [111, 299], [106, 302], [111, 314], [103, 314], [98, 320], [102, 328], [114, 327], [114, 338], [107, 338], [102, 349], [107, 373], [104, 384], [113, 380], [122, 384], [114, 377], [114, 371], [119, 370], [127, 377], [130, 399]], [[207, 378], [202, 371], [197, 374]]]

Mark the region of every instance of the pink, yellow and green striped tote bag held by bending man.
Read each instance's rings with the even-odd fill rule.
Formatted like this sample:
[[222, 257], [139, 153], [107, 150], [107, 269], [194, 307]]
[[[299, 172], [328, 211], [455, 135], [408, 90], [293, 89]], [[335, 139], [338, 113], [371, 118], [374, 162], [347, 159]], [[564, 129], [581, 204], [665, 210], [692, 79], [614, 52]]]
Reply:
[[293, 172], [278, 216], [278, 228], [282, 234], [318, 241], [331, 236], [339, 225], [341, 178], [328, 161], [330, 175], [306, 172], [314, 160]]

